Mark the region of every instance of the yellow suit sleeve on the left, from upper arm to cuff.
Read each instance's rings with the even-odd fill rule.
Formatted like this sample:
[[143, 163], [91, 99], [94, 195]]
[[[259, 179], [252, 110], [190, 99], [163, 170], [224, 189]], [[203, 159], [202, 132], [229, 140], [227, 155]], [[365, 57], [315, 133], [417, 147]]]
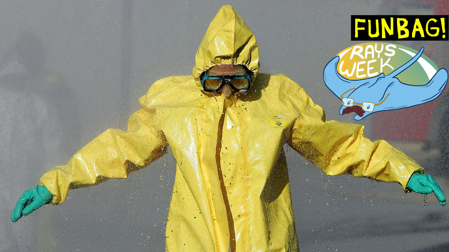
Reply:
[[53, 194], [53, 204], [62, 203], [71, 188], [90, 186], [108, 178], [125, 178], [167, 152], [167, 141], [154, 125], [154, 113], [141, 109], [128, 120], [128, 130], [108, 129], [79, 150], [64, 166], [40, 178]]

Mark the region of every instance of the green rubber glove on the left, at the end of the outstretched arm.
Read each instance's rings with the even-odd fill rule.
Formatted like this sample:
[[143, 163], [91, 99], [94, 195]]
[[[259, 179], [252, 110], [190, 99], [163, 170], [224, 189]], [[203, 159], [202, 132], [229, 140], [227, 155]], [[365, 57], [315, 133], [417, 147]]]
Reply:
[[37, 185], [36, 188], [28, 189], [20, 196], [16, 207], [11, 212], [11, 221], [18, 221], [20, 217], [26, 216], [37, 208], [52, 203], [52, 201], [53, 195], [47, 187]]

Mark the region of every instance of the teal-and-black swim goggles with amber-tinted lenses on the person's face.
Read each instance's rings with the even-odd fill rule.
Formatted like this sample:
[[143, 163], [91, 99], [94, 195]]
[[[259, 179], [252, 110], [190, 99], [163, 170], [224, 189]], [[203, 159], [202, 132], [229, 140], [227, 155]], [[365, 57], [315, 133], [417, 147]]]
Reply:
[[251, 88], [250, 75], [203, 75], [201, 85], [204, 91], [216, 93], [229, 84], [236, 92], [245, 92]]

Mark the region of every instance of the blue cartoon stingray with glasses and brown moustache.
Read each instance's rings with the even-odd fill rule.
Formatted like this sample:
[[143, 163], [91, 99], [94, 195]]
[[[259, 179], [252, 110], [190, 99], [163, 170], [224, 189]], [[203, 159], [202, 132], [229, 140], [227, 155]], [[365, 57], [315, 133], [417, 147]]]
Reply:
[[438, 97], [448, 81], [444, 68], [438, 70], [425, 85], [409, 85], [395, 78], [416, 62], [423, 50], [421, 48], [409, 62], [389, 75], [381, 73], [362, 80], [348, 80], [341, 76], [337, 71], [340, 57], [334, 57], [324, 68], [323, 78], [330, 91], [342, 100], [340, 115], [356, 112], [354, 119], [361, 120], [374, 112], [407, 108]]

